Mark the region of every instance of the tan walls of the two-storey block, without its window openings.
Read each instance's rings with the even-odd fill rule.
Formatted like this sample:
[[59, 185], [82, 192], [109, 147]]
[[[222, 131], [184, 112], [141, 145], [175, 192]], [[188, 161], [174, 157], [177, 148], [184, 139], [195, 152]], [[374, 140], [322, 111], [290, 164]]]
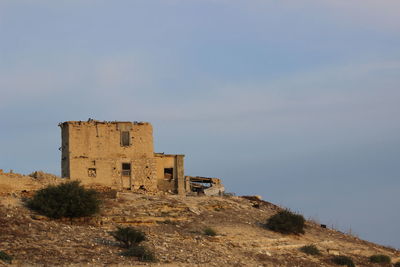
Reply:
[[[151, 124], [70, 121], [60, 126], [63, 177], [117, 188], [157, 190]], [[129, 132], [129, 146], [121, 145], [122, 131]], [[131, 164], [130, 177], [122, 175], [123, 163]]]

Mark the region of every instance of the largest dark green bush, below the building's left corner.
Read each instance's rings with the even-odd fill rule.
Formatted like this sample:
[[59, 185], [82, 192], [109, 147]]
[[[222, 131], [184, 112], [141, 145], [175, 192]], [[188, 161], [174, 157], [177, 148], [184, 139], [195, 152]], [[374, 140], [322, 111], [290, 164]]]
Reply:
[[55, 219], [85, 217], [100, 210], [98, 193], [93, 189], [85, 189], [79, 181], [38, 190], [26, 204], [28, 208]]

